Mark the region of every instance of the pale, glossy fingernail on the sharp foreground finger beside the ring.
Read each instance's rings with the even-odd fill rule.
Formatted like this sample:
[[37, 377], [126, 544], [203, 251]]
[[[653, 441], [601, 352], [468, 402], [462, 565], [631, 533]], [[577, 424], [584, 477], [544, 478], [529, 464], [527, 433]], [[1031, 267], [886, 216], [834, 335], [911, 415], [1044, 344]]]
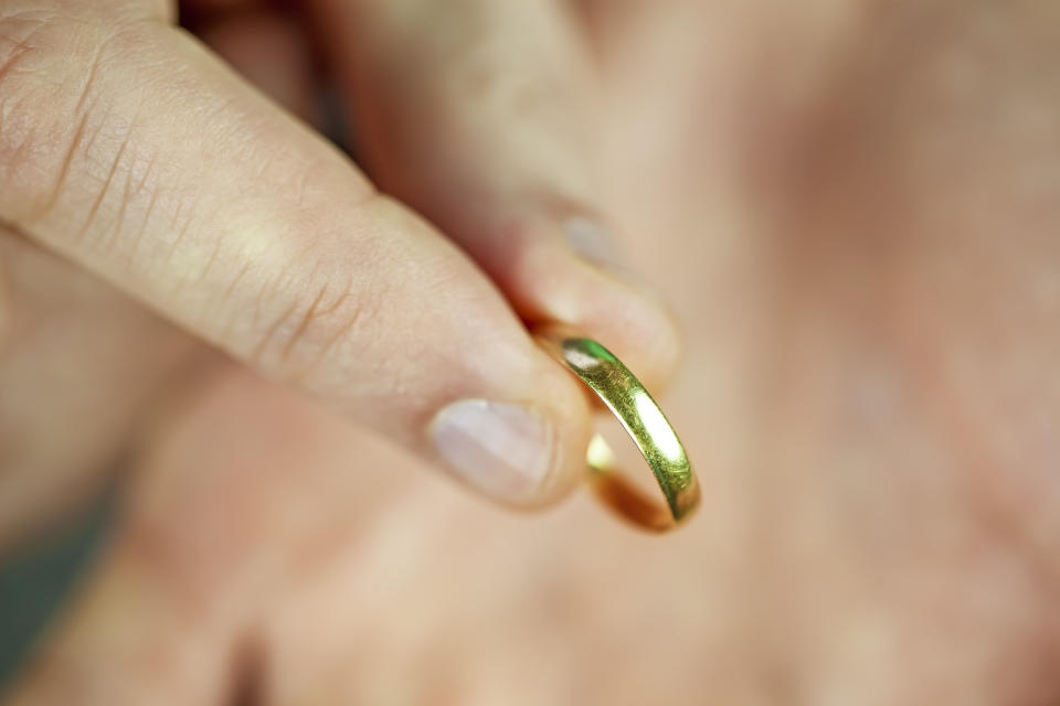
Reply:
[[551, 425], [518, 405], [462, 399], [435, 416], [431, 437], [457, 475], [501, 500], [532, 498], [552, 464]]

